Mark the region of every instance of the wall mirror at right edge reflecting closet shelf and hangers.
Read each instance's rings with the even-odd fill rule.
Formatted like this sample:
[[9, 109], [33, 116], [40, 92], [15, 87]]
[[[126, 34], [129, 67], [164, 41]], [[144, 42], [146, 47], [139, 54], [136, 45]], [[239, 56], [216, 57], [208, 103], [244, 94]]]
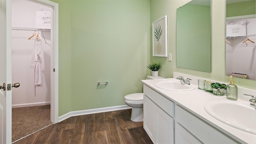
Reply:
[[226, 0], [226, 75], [256, 80], [256, 0]]

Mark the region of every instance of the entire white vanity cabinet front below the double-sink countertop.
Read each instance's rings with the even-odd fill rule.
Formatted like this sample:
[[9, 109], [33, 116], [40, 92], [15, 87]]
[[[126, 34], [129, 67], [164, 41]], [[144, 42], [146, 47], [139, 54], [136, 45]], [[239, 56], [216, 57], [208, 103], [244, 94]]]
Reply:
[[143, 128], [154, 144], [239, 143], [152, 88], [143, 88]]

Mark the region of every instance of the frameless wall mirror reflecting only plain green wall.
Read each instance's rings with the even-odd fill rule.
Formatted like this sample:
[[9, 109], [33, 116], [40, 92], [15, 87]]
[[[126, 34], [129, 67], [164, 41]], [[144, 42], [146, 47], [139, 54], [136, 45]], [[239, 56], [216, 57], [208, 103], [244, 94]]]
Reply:
[[211, 72], [210, 0], [192, 0], [176, 10], [176, 67]]

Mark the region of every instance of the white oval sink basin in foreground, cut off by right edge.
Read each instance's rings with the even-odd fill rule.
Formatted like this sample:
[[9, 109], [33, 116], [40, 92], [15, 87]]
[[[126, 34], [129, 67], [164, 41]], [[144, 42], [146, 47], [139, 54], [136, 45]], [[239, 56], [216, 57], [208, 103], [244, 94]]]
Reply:
[[204, 109], [225, 124], [256, 134], [256, 109], [249, 104], [238, 100], [214, 100], [207, 102]]

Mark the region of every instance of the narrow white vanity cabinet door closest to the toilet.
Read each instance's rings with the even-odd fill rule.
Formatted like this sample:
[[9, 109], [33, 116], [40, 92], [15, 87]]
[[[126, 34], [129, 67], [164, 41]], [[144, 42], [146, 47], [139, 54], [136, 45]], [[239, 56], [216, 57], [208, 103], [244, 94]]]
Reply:
[[147, 132], [152, 142], [156, 143], [156, 104], [144, 95], [143, 103], [143, 128]]

